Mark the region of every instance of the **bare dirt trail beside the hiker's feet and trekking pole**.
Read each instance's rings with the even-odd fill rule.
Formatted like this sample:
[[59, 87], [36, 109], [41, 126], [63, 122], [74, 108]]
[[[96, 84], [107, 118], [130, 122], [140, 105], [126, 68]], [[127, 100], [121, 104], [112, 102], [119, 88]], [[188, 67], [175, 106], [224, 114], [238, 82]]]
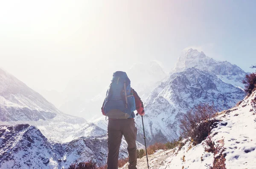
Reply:
[[[166, 159], [174, 155], [175, 150], [170, 149], [167, 151], [159, 150], [153, 155], [148, 155], [148, 164], [150, 169], [159, 169], [165, 163]], [[125, 164], [122, 168], [119, 169], [128, 169], [128, 163]], [[148, 169], [147, 158], [143, 157], [137, 159], [137, 169]]]

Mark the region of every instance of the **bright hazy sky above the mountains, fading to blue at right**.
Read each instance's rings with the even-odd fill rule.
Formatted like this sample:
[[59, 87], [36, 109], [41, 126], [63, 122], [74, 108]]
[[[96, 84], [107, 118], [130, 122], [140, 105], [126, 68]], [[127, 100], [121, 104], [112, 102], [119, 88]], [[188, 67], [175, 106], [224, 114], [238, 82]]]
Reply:
[[32, 89], [58, 91], [70, 79], [111, 77], [147, 60], [168, 72], [187, 47], [253, 71], [255, 6], [253, 0], [5, 0], [0, 67]]

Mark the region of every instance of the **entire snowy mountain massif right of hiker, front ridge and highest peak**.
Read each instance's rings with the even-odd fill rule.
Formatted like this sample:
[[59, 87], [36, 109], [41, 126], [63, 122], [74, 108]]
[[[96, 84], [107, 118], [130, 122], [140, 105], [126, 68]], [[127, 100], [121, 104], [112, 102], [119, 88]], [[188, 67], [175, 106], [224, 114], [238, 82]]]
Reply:
[[[169, 78], [145, 100], [144, 125], [148, 140], [154, 143], [177, 138], [178, 119], [198, 103], [214, 103], [219, 110], [236, 105], [245, 95], [242, 90], [245, 75], [238, 66], [215, 61], [204, 52], [183, 51]], [[142, 135], [140, 120], [137, 124]]]

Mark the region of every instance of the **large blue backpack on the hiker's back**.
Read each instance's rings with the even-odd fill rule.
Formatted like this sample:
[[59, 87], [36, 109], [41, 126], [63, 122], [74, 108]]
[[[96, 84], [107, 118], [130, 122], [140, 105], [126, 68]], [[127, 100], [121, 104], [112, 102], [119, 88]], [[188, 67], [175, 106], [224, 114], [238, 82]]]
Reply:
[[113, 74], [103, 109], [109, 118], [127, 119], [134, 116], [135, 99], [131, 91], [131, 81], [125, 72], [118, 71]]

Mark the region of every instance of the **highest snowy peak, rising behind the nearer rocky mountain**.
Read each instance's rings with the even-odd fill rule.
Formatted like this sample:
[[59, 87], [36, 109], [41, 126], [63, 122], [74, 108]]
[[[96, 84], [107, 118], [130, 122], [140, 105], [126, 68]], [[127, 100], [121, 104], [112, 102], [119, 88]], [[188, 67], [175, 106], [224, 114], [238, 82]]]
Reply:
[[225, 83], [244, 89], [244, 72], [239, 66], [233, 65], [227, 61], [216, 61], [207, 57], [204, 52], [198, 52], [194, 49], [184, 50], [175, 64], [171, 73], [183, 72], [185, 69], [195, 67], [197, 69], [208, 71], [215, 74]]

